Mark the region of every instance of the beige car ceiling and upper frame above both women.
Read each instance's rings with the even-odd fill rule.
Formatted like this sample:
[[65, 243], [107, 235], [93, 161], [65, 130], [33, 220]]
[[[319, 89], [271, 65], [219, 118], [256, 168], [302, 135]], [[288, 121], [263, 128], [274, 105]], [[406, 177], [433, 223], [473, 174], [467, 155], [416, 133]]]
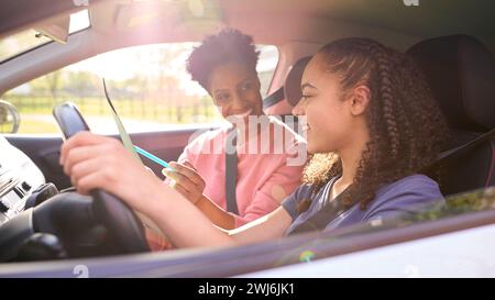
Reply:
[[[12, 1], [12, 10], [22, 10], [22, 2]], [[64, 3], [70, 1], [50, 2], [65, 9], [66, 14], [85, 8]], [[495, 32], [492, 29], [495, 27], [495, 19], [491, 18], [491, 12], [495, 3], [490, 0], [482, 3], [439, 0], [407, 7], [402, 0], [376, 0], [373, 5], [366, 0], [91, 1], [87, 7], [91, 23], [89, 30], [73, 34], [66, 45], [52, 43], [19, 59], [0, 64], [0, 95], [99, 53], [140, 44], [200, 41], [222, 26], [240, 29], [253, 35], [258, 44], [278, 46], [279, 69], [275, 73], [271, 91], [284, 84], [289, 67], [298, 58], [344, 36], [367, 36], [406, 51], [425, 38], [461, 33], [476, 37], [494, 52]], [[56, 11], [56, 8], [52, 9]], [[41, 20], [43, 13], [46, 12], [24, 11], [24, 27], [32, 26], [30, 22], [33, 20]], [[8, 22], [14, 15], [0, 12], [4, 24], [19, 26], [23, 20]], [[12, 29], [0, 25], [0, 36], [8, 33], [12, 33]], [[16, 60], [15, 64], [10, 64], [12, 60]]]

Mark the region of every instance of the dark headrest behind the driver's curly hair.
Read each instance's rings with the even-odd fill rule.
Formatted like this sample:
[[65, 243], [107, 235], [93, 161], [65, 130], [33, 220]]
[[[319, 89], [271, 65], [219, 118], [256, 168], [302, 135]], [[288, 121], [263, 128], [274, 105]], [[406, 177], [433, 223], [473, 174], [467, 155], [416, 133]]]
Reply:
[[495, 127], [495, 59], [477, 40], [451, 35], [419, 42], [407, 51], [422, 69], [454, 129]]

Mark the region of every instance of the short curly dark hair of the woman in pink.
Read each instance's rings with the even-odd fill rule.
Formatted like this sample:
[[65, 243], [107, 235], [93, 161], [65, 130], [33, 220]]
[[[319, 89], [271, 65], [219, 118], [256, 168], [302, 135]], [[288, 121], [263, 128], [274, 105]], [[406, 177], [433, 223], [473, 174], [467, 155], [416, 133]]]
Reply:
[[260, 52], [253, 44], [253, 37], [234, 29], [224, 29], [215, 35], [208, 35], [201, 45], [194, 48], [187, 59], [187, 71], [193, 80], [208, 90], [211, 71], [223, 64], [245, 64], [256, 73]]

